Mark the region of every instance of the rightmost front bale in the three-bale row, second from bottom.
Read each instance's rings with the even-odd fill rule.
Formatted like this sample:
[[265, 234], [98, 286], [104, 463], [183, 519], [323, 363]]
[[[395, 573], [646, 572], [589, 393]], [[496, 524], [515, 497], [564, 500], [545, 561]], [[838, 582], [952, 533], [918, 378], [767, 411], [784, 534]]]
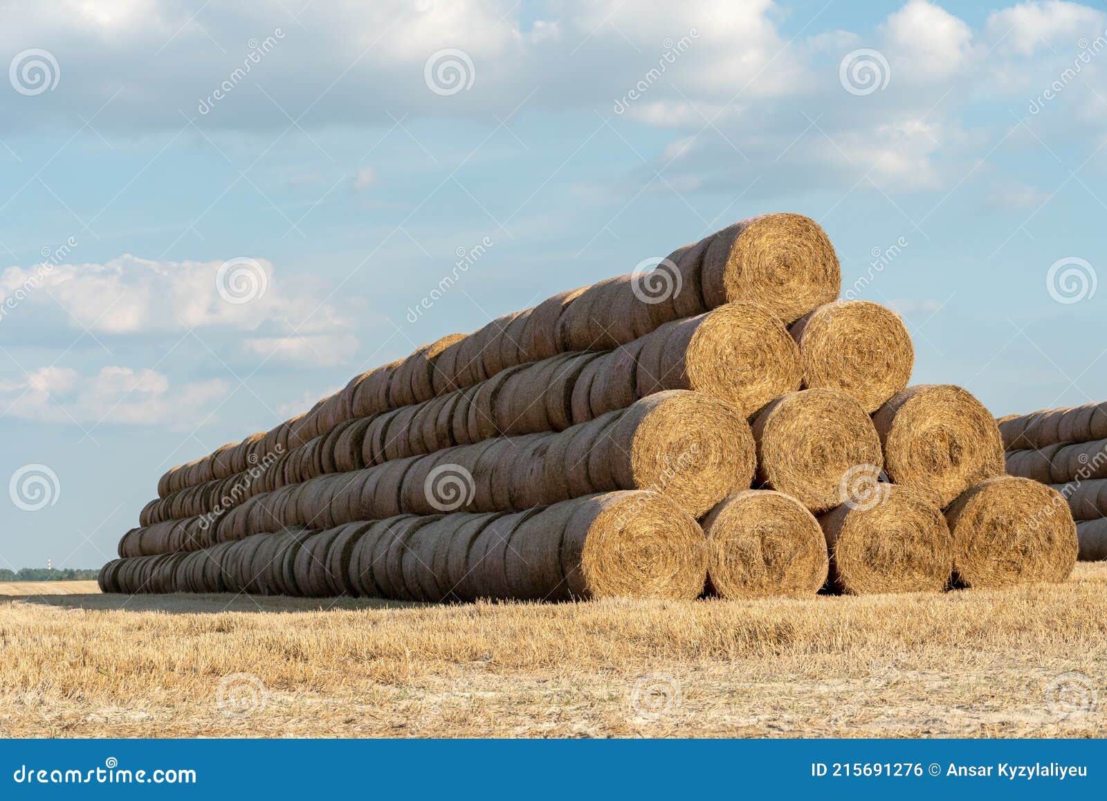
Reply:
[[872, 420], [889, 479], [929, 493], [942, 509], [970, 486], [1004, 472], [995, 419], [960, 387], [911, 387]]

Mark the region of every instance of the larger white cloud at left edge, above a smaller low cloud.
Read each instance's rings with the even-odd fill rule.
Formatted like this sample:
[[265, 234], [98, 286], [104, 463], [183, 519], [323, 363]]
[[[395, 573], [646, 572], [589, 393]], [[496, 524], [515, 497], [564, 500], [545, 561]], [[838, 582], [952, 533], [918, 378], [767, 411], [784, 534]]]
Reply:
[[[234, 335], [241, 340], [239, 353], [273, 355], [286, 366], [337, 364], [356, 351], [352, 320], [304, 284], [310, 277], [279, 280], [266, 259], [242, 259], [237, 277], [220, 277], [223, 264], [126, 254], [106, 264], [10, 267], [0, 274], [2, 321], [22, 326], [21, 333], [38, 326], [51, 336], [63, 327], [96, 336], [179, 336], [190, 329], [205, 341]], [[244, 297], [236, 292], [257, 297], [232, 302]]]

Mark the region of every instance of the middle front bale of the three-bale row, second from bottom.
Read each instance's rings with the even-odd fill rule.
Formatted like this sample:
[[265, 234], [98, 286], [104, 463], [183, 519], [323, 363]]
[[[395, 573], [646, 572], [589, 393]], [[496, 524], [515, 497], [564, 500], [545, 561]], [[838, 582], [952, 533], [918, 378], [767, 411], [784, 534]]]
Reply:
[[753, 427], [757, 479], [818, 514], [842, 502], [842, 484], [858, 470], [879, 473], [883, 456], [869, 415], [853, 398], [830, 389], [789, 392], [769, 403]]

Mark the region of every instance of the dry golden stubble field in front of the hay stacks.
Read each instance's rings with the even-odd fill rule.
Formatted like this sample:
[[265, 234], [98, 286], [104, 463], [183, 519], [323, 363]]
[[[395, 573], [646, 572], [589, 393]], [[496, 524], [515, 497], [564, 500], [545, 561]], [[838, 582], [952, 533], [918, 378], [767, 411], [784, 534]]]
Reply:
[[28, 595], [0, 600], [0, 736], [1107, 730], [1104, 563], [1004, 592], [744, 603]]

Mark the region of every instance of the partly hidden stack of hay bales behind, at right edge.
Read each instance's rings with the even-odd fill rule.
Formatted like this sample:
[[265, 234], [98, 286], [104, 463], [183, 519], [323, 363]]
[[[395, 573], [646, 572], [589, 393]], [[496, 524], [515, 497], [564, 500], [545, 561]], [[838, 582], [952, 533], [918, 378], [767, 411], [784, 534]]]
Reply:
[[1068, 502], [1079, 558], [1107, 559], [1107, 403], [1001, 418], [1007, 472], [1051, 485]]

